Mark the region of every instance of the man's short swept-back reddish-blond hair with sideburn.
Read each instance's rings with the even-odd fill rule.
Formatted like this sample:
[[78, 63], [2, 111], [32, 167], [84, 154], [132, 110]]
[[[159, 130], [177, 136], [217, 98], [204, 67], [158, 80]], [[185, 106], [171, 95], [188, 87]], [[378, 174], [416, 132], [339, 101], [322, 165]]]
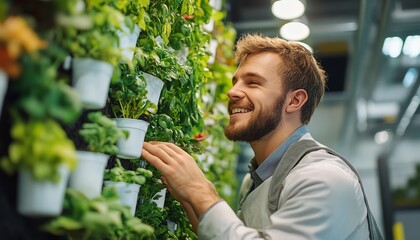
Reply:
[[327, 76], [312, 53], [303, 45], [281, 38], [261, 35], [244, 35], [236, 44], [235, 58], [241, 63], [250, 54], [271, 52], [281, 59], [278, 74], [283, 79], [284, 93], [304, 89], [308, 101], [302, 107], [301, 121], [309, 123], [315, 108], [321, 101]]

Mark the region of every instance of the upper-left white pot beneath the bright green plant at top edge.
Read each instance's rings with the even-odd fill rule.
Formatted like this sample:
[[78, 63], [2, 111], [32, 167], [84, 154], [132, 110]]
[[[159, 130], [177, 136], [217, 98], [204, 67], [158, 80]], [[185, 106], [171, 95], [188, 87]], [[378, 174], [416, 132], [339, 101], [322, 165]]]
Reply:
[[108, 97], [114, 67], [90, 58], [73, 59], [73, 87], [86, 109], [101, 109]]

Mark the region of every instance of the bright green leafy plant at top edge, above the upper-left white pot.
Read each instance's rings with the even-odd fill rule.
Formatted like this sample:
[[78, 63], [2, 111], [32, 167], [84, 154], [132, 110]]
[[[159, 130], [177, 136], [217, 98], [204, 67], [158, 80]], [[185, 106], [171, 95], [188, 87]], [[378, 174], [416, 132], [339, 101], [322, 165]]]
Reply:
[[[72, 0], [67, 0], [67, 2]], [[56, 40], [73, 57], [93, 58], [117, 66], [122, 59], [116, 31], [126, 17], [106, 0], [85, 1], [81, 13], [72, 4], [61, 4], [60, 28]]]

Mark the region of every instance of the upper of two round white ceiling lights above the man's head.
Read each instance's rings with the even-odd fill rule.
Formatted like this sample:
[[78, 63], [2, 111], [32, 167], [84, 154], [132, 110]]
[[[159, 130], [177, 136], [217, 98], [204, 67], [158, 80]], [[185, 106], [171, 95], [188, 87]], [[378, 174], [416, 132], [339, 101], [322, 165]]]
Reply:
[[305, 12], [305, 5], [299, 0], [279, 0], [271, 6], [273, 15], [285, 20], [298, 18]]

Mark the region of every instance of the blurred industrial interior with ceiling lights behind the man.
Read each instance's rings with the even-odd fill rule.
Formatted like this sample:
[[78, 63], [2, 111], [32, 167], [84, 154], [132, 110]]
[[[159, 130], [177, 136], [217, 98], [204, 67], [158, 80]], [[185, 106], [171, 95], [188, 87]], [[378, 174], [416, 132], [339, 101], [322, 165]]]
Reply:
[[356, 166], [386, 239], [420, 239], [420, 1], [231, 0], [227, 9], [237, 37], [312, 49], [329, 75], [312, 135]]

